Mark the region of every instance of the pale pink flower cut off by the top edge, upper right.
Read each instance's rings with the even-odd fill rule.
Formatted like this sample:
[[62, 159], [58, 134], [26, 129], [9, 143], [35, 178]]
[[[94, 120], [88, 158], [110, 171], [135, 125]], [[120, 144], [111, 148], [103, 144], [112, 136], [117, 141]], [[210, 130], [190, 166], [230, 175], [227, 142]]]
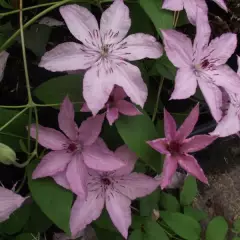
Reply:
[[[219, 7], [228, 11], [224, 0], [213, 0]], [[195, 25], [197, 18], [197, 8], [201, 7], [205, 12], [208, 11], [205, 0], [164, 0], [163, 9], [171, 11], [186, 10], [189, 21]]]

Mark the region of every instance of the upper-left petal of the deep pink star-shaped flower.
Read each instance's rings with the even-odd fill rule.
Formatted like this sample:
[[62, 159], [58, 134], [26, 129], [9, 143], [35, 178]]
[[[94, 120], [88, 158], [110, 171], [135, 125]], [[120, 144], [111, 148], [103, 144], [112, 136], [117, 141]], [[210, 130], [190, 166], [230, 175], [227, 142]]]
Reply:
[[166, 138], [171, 141], [175, 139], [177, 125], [172, 115], [164, 108], [164, 132]]

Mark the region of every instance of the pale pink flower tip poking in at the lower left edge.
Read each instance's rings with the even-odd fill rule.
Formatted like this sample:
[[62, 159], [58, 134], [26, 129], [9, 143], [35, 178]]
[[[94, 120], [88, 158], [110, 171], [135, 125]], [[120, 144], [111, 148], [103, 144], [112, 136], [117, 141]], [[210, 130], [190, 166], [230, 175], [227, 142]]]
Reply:
[[21, 207], [26, 198], [0, 187], [0, 222], [9, 218], [9, 216]]

